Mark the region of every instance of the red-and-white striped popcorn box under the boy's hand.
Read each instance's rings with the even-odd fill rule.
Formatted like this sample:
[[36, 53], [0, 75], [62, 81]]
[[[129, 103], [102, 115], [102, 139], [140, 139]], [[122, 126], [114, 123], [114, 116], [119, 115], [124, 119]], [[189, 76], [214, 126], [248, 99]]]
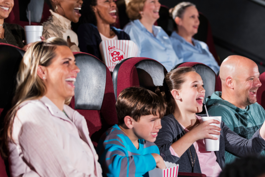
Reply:
[[177, 177], [178, 176], [178, 164], [171, 163], [171, 162], [165, 162], [166, 169], [159, 169], [155, 168], [151, 171], [149, 171], [150, 177]]

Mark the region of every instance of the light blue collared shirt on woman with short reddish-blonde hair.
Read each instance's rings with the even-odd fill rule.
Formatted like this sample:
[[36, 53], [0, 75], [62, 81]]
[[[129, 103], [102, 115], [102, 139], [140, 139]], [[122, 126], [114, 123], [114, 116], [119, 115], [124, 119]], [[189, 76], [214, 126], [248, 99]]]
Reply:
[[140, 20], [134, 20], [124, 27], [130, 39], [138, 46], [138, 57], [147, 57], [157, 60], [169, 72], [179, 62], [167, 33], [153, 25], [153, 34], [150, 33]]

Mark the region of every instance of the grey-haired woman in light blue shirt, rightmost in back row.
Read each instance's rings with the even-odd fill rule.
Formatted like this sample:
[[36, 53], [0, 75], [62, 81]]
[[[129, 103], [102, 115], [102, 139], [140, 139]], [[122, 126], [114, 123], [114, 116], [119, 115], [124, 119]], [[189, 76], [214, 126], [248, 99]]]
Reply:
[[174, 7], [172, 17], [177, 24], [177, 31], [172, 33], [170, 40], [180, 61], [203, 63], [217, 73], [220, 66], [208, 45], [193, 38], [200, 24], [196, 6], [190, 2], [182, 2]]

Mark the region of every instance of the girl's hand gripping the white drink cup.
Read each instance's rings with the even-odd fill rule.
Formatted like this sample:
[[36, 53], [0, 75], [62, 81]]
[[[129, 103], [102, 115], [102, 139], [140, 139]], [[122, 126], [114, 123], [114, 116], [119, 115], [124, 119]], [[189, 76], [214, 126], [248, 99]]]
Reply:
[[[204, 121], [204, 122], [196, 125], [195, 127], [193, 127], [193, 129], [191, 131], [189, 131], [188, 133], [190, 133], [190, 134], [192, 133], [192, 136], [194, 137], [195, 141], [201, 140], [204, 138], [209, 138], [212, 140], [218, 140], [218, 138], [216, 138], [210, 134], [220, 135], [220, 132], [217, 132], [217, 131], [221, 131], [221, 128], [219, 128], [215, 125], [210, 125], [210, 124], [220, 124], [220, 122], [218, 120], [214, 120], [214, 119]], [[215, 130], [217, 130], [217, 131], [215, 131]]]

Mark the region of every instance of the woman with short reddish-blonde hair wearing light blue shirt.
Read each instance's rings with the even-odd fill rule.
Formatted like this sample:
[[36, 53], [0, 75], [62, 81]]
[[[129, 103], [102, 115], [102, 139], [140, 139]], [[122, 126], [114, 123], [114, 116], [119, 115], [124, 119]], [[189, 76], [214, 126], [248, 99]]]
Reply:
[[158, 0], [131, 0], [126, 11], [132, 22], [124, 27], [124, 31], [138, 46], [138, 57], [157, 60], [170, 71], [180, 62], [167, 33], [154, 25], [159, 18], [159, 9]]

